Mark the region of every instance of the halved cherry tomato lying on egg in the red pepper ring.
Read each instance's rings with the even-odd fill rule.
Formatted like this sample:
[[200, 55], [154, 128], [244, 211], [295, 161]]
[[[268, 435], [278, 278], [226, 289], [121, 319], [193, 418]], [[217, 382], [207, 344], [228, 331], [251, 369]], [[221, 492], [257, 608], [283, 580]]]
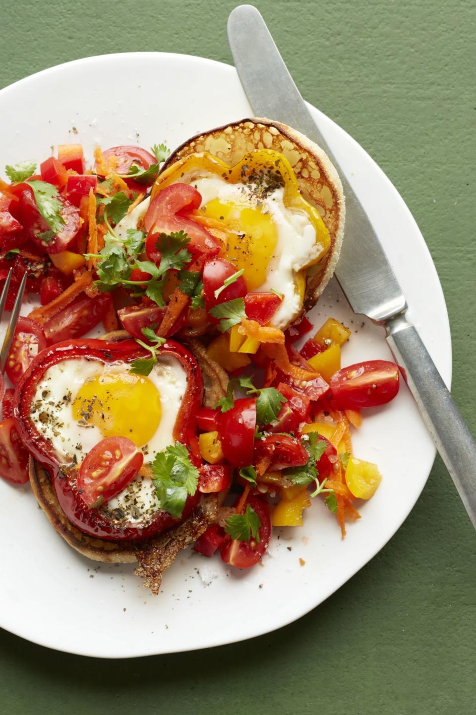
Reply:
[[78, 492], [88, 506], [109, 501], [133, 480], [143, 453], [126, 437], [106, 437], [88, 452], [78, 472]]

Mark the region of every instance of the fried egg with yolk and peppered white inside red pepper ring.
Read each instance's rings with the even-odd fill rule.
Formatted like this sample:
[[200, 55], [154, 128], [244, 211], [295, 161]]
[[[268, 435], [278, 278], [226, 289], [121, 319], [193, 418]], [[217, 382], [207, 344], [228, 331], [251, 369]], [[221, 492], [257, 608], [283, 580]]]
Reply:
[[[128, 363], [76, 358], [52, 365], [36, 386], [31, 419], [61, 465], [79, 464], [106, 437], [127, 437], [144, 462], [175, 443], [173, 428], [187, 388], [186, 371], [169, 355], [148, 377]], [[160, 507], [153, 483], [137, 475], [103, 507], [109, 516], [139, 523]]]

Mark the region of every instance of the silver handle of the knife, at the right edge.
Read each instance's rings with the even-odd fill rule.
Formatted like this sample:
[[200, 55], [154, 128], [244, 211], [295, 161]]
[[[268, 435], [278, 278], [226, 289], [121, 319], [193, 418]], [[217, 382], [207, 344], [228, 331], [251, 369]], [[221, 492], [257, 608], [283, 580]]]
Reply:
[[403, 314], [385, 327], [390, 350], [476, 528], [476, 442], [415, 327]]

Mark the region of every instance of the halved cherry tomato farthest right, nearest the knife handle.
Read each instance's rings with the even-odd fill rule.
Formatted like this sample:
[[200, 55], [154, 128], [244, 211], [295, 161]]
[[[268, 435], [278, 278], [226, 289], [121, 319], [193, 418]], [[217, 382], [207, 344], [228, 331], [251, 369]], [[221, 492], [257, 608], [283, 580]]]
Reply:
[[330, 390], [341, 407], [360, 410], [393, 400], [400, 387], [398, 366], [388, 360], [368, 360], [338, 370]]

